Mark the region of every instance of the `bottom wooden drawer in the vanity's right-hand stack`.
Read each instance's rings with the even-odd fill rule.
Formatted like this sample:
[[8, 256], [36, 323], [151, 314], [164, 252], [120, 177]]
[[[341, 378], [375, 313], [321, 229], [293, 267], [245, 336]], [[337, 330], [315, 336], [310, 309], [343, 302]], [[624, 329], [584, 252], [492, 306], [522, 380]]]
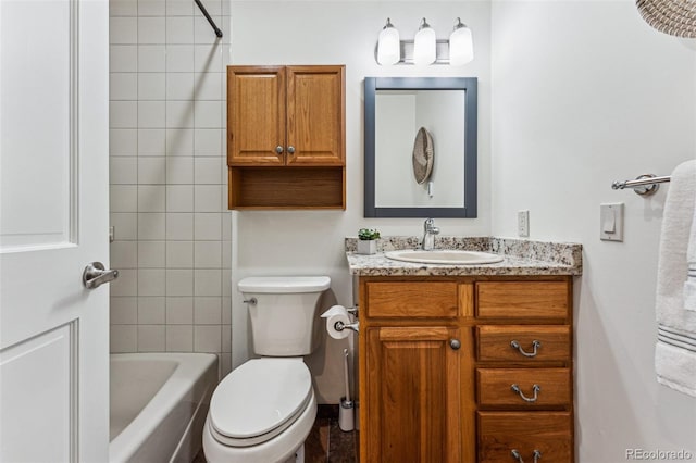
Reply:
[[477, 412], [476, 421], [480, 463], [573, 461], [569, 412]]

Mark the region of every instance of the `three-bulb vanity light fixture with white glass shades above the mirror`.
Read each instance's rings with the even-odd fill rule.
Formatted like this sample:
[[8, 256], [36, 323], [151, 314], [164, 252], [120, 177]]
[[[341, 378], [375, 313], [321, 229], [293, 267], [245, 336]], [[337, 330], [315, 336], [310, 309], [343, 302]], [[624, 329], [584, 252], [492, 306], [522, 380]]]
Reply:
[[423, 17], [413, 40], [400, 40], [399, 32], [387, 17], [380, 32], [374, 55], [377, 64], [451, 64], [461, 66], [474, 59], [471, 29], [457, 18], [448, 40], [437, 40], [435, 30]]

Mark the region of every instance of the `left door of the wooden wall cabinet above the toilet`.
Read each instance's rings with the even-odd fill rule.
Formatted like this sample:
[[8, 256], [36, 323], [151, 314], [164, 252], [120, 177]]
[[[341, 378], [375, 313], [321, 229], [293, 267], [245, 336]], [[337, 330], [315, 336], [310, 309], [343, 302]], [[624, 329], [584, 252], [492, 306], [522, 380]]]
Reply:
[[284, 66], [227, 67], [228, 165], [285, 163], [285, 78]]

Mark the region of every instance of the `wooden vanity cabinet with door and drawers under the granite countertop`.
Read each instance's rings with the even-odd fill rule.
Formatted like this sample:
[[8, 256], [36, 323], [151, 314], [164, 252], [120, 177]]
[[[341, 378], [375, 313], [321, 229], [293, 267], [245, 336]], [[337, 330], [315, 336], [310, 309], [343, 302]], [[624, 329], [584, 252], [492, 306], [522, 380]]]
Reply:
[[363, 276], [360, 330], [361, 461], [574, 461], [571, 277]]

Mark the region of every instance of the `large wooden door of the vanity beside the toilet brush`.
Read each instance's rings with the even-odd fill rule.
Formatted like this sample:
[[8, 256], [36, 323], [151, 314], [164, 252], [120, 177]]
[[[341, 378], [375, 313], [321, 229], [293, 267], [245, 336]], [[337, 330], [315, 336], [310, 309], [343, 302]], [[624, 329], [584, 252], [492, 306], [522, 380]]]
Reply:
[[370, 462], [460, 461], [460, 351], [453, 327], [366, 330]]

